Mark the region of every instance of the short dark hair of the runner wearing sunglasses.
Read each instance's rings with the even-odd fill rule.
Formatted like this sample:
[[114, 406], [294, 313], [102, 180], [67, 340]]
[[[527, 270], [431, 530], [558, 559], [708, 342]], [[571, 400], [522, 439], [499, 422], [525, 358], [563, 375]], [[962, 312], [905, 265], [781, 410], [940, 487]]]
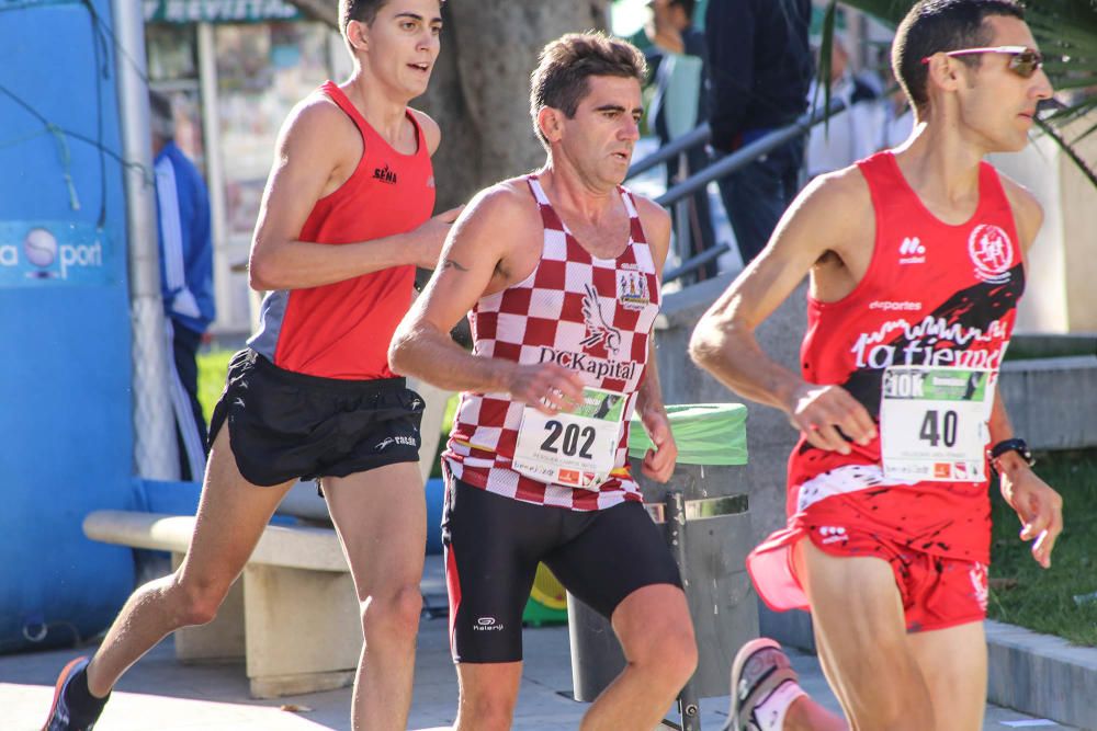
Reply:
[[[929, 69], [921, 59], [942, 50], [989, 44], [991, 30], [983, 21], [991, 15], [1025, 20], [1025, 10], [1014, 0], [918, 0], [911, 8], [895, 31], [892, 70], [916, 108], [924, 110], [929, 103]], [[982, 57], [957, 58], [977, 67]]]

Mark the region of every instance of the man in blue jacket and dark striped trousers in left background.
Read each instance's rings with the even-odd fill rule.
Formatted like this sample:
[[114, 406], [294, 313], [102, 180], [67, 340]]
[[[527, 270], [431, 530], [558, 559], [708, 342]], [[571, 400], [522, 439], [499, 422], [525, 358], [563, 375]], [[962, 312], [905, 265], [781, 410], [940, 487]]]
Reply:
[[160, 292], [172, 343], [171, 404], [179, 436], [181, 477], [205, 472], [206, 422], [199, 403], [197, 350], [216, 317], [210, 195], [202, 175], [176, 146], [171, 102], [149, 91], [156, 209], [159, 220]]

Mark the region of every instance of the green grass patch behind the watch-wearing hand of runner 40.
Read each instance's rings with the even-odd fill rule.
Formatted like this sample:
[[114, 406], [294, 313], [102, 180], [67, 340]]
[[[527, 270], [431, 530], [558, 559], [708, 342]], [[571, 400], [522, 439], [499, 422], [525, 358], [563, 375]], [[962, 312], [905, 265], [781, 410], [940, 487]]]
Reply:
[[[1063, 534], [1044, 571], [1017, 537], [1020, 522], [991, 488], [992, 619], [1097, 646], [1097, 449], [1040, 456], [1037, 471], [1063, 496]], [[1082, 597], [1075, 601], [1075, 596]]]

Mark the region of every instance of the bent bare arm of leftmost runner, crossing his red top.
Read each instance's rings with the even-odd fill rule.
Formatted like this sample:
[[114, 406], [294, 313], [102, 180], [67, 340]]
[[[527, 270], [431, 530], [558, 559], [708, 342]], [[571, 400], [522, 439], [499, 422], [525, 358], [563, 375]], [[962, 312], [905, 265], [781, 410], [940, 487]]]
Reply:
[[331, 180], [340, 173], [349, 178], [341, 165], [360, 158], [361, 146], [355, 147], [351, 133], [358, 135], [347, 115], [323, 100], [307, 100], [290, 114], [252, 238], [248, 269], [253, 289], [316, 287], [392, 266], [437, 263], [457, 208], [406, 233], [372, 241], [333, 247], [297, 240], [316, 202], [330, 192]]

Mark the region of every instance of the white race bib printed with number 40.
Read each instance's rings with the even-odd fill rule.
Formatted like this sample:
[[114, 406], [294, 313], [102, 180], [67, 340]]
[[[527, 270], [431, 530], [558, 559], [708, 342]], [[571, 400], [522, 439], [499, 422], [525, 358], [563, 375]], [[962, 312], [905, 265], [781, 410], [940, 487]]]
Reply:
[[884, 370], [880, 445], [889, 478], [982, 482], [997, 373], [892, 366]]

